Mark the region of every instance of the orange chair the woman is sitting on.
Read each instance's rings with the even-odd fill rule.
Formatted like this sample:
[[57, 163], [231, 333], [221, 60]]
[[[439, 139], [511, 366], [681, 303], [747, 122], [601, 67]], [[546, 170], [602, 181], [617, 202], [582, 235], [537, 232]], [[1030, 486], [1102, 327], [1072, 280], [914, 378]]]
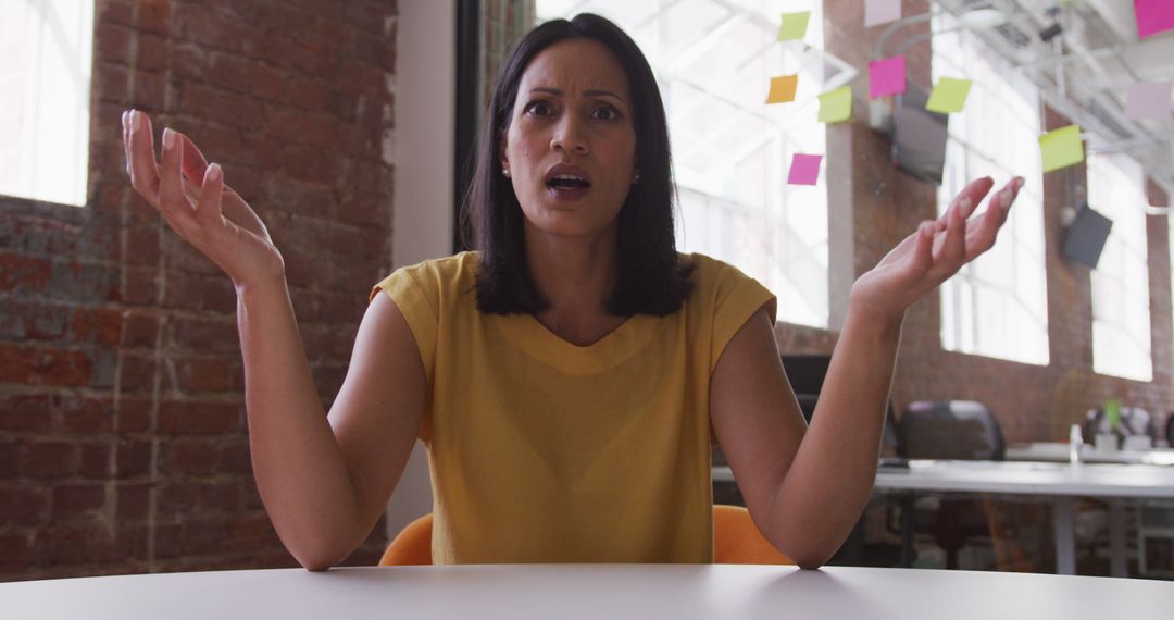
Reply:
[[[432, 564], [432, 514], [407, 524], [379, 558], [379, 566]], [[714, 506], [714, 564], [795, 564], [762, 535], [742, 506]]]

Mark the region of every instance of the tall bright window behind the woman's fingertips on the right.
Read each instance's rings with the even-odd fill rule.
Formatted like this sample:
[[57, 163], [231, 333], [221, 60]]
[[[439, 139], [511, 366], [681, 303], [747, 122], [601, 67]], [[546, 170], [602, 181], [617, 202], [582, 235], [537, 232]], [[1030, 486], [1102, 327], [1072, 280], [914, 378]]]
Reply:
[[[1039, 95], [1021, 73], [947, 14], [933, 19], [935, 83], [942, 76], [973, 81], [966, 108], [950, 117], [938, 214], [973, 178], [996, 189], [1019, 175], [1026, 183], [999, 241], [942, 287], [942, 346], [950, 351], [1048, 363]], [[985, 205], [979, 205], [979, 211]]]

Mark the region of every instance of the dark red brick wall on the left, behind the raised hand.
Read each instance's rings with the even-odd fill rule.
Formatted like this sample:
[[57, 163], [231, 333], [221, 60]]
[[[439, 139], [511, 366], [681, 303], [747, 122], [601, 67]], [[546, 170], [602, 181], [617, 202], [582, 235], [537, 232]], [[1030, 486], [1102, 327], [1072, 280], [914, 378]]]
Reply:
[[191, 135], [269, 225], [329, 409], [391, 265], [396, 12], [97, 1], [88, 203], [0, 197], [0, 580], [295, 564], [250, 472], [232, 288], [133, 193], [120, 115]]

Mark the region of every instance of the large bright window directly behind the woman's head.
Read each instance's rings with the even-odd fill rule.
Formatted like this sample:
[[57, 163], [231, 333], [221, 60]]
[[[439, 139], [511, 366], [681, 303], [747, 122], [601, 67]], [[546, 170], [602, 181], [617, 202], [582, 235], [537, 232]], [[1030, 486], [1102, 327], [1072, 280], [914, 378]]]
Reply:
[[[538, 0], [537, 18], [592, 12], [648, 58], [669, 119], [681, 203], [677, 247], [736, 265], [778, 296], [778, 319], [828, 326], [826, 173], [788, 186], [795, 153], [824, 154], [817, 95], [828, 72], [822, 2]], [[777, 41], [782, 13], [811, 11], [807, 45]], [[828, 67], [828, 68], [825, 68]], [[767, 106], [798, 73], [795, 102]]]

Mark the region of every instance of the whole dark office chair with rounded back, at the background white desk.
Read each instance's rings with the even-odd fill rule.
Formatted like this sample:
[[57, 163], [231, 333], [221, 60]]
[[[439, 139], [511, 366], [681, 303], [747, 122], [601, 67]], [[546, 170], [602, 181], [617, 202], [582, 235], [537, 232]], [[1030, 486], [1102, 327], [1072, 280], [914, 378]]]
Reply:
[[[905, 458], [1003, 460], [1006, 452], [998, 420], [985, 405], [973, 400], [910, 403], [897, 429], [898, 454]], [[906, 503], [909, 507], [911, 503]], [[946, 568], [958, 568], [958, 552], [979, 537], [990, 537], [1000, 570], [1031, 568], [991, 500], [942, 500], [930, 518], [930, 532], [946, 553]]]

